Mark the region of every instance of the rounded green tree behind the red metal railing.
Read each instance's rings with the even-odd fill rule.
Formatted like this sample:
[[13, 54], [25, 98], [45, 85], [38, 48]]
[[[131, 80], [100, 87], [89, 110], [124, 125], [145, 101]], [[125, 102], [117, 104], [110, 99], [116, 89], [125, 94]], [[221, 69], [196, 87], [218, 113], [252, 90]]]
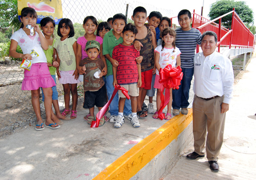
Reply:
[[[234, 0], [218, 0], [215, 3], [212, 3], [210, 6], [210, 11], [208, 16], [210, 19], [215, 19], [222, 16], [225, 13], [235, 11], [238, 16], [243, 20], [244, 23], [253, 24], [253, 11], [249, 6], [246, 5], [244, 1], [234, 1]], [[219, 21], [217, 21], [218, 23]], [[232, 23], [232, 13], [222, 18], [222, 26], [231, 29]]]

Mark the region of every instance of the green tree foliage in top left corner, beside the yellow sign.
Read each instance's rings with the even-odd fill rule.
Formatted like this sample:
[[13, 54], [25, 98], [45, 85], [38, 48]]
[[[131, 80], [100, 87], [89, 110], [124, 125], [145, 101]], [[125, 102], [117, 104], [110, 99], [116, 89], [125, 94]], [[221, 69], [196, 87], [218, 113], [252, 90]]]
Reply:
[[0, 0], [0, 27], [13, 26], [14, 30], [19, 29], [17, 0]]

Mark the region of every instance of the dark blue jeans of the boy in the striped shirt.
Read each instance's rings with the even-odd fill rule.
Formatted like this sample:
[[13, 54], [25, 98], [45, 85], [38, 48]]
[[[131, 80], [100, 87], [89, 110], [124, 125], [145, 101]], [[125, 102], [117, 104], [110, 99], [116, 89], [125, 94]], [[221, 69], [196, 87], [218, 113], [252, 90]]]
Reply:
[[172, 90], [172, 108], [180, 109], [187, 108], [189, 106], [189, 90], [191, 85], [191, 80], [194, 75], [193, 68], [182, 68], [183, 78], [181, 81], [180, 88], [178, 90]]

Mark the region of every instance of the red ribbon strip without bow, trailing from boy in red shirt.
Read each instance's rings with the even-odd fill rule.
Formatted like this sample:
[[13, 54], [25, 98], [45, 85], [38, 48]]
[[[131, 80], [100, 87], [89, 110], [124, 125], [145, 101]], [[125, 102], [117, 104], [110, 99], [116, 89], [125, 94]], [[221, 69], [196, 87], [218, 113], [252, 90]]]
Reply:
[[[115, 90], [113, 91], [113, 94], [111, 96], [111, 99], [108, 101], [108, 103], [105, 104], [105, 106], [97, 113], [96, 115], [96, 121], [92, 121], [91, 128], [98, 128], [100, 124], [101, 117], [104, 116], [104, 114], [107, 112], [108, 107], [110, 103], [112, 102], [115, 94], [117, 93], [118, 90], [121, 90], [124, 96], [126, 96], [127, 99], [130, 99], [130, 96], [128, 95], [128, 90], [125, 88], [121, 87], [120, 85], [115, 85]], [[116, 104], [117, 105], [117, 104]]]

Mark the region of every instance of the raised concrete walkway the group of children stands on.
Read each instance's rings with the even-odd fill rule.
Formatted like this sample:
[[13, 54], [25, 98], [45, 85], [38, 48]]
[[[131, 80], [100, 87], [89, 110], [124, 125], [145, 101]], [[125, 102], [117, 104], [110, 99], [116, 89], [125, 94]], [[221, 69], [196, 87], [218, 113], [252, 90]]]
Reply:
[[[191, 102], [193, 91], [190, 92]], [[63, 121], [59, 129], [45, 127], [36, 131], [33, 124], [0, 139], [0, 180], [92, 180], [167, 122], [148, 114], [140, 119], [140, 128], [133, 128], [126, 118], [120, 129], [110, 122], [90, 128], [83, 119], [87, 114], [88, 109], [80, 104], [77, 118]]]

